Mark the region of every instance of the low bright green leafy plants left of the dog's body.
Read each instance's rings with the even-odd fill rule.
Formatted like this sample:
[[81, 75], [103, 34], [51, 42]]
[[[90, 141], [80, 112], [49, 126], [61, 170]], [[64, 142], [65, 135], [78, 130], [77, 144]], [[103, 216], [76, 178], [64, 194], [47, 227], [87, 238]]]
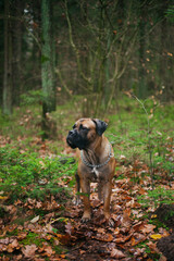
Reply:
[[[10, 194], [10, 201], [26, 197], [44, 200], [48, 195], [61, 194], [65, 188], [59, 185], [75, 171], [72, 159], [39, 158], [37, 153], [21, 153], [7, 146], [0, 149], [0, 190]], [[63, 163], [62, 163], [63, 162]]]

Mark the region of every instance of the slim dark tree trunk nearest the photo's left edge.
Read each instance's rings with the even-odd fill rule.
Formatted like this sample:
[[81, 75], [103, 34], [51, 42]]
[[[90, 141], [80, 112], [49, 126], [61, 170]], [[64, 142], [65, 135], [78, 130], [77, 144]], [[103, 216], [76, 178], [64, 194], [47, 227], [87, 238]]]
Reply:
[[12, 33], [9, 0], [4, 1], [4, 75], [2, 112], [4, 115], [12, 113]]

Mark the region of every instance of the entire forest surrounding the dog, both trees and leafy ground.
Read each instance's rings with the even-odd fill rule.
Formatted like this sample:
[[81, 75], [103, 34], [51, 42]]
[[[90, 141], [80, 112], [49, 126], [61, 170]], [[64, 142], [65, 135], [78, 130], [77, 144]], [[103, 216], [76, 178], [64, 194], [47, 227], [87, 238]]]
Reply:
[[[171, 0], [0, 0], [0, 260], [174, 256], [173, 32]], [[65, 206], [83, 116], [109, 123], [114, 228], [96, 188], [89, 227]]]

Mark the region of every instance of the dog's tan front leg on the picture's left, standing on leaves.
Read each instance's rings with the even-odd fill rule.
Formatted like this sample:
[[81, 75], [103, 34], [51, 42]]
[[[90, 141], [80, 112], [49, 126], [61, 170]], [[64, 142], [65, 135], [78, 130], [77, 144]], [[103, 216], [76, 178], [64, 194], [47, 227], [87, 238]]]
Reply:
[[84, 201], [84, 214], [83, 214], [83, 222], [87, 222], [91, 217], [91, 210], [90, 210], [90, 183], [86, 178], [80, 178], [80, 188], [83, 192], [83, 201]]

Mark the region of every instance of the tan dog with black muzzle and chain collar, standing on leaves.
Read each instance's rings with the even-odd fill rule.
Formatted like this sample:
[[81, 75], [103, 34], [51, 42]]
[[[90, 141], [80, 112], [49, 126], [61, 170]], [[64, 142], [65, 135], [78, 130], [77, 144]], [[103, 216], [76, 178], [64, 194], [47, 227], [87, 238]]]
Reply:
[[91, 219], [90, 182], [98, 183], [98, 197], [103, 198], [103, 213], [110, 220], [112, 178], [115, 171], [113, 148], [103, 133], [108, 124], [98, 119], [79, 119], [69, 132], [67, 145], [78, 148], [78, 169], [76, 174], [77, 203], [82, 189], [84, 214], [83, 222]]

